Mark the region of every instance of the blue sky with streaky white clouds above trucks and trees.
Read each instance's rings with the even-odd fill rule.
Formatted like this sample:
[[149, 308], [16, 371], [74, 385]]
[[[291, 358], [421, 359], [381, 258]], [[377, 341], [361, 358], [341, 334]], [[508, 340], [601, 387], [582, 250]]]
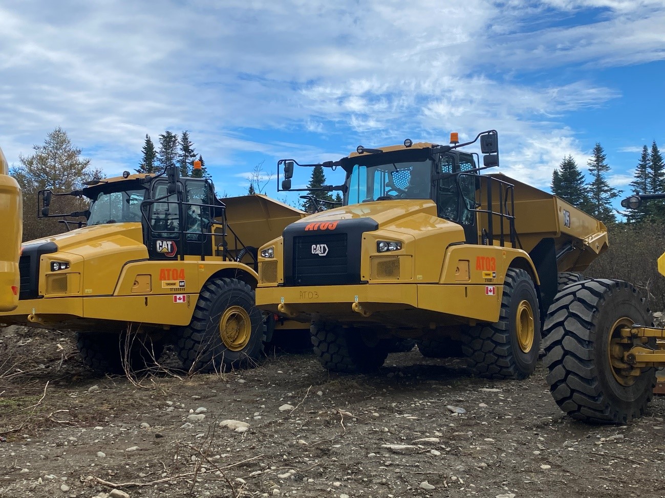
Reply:
[[61, 126], [112, 176], [186, 129], [217, 192], [261, 165], [279, 197], [278, 159], [496, 129], [506, 175], [547, 190], [599, 142], [628, 189], [665, 148], [664, 27], [665, 0], [0, 0], [0, 147]]

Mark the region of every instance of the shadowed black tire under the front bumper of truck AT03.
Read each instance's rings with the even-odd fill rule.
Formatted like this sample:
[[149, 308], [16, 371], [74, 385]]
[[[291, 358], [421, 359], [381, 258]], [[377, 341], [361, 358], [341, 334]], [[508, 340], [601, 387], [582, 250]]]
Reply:
[[388, 357], [383, 341], [370, 346], [357, 328], [344, 328], [336, 322], [317, 322], [311, 326], [314, 355], [323, 367], [333, 372], [368, 373], [382, 367]]

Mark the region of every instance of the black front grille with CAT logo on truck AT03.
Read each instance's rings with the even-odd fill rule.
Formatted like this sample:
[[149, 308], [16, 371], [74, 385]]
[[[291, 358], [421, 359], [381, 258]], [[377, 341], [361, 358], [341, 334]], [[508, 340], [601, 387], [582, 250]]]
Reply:
[[293, 238], [293, 281], [296, 286], [356, 283], [358, 270], [348, 267], [346, 234]]

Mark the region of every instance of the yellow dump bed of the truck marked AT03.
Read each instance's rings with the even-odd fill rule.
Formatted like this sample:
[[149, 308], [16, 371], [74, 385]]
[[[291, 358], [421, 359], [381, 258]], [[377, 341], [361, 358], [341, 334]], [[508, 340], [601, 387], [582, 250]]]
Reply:
[[[486, 176], [514, 186], [517, 248], [531, 253], [541, 240], [553, 238], [559, 272], [581, 272], [608, 247], [607, 228], [593, 216], [555, 195], [501, 173]], [[499, 212], [499, 199], [501, 199], [499, 182], [491, 183], [492, 208], [495, 212]], [[505, 192], [503, 199], [504, 201], [506, 199]], [[509, 203], [510, 201], [508, 207]], [[481, 204], [483, 208], [487, 206], [485, 195], [481, 198]], [[495, 217], [495, 233], [497, 224], [501, 226]], [[486, 216], [481, 216], [480, 225], [481, 228], [487, 229]], [[507, 232], [507, 225], [504, 226]]]

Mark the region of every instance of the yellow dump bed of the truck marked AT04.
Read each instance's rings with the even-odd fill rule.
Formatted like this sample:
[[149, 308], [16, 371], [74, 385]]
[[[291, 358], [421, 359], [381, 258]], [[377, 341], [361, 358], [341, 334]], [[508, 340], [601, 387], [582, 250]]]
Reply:
[[226, 205], [226, 219], [233, 233], [245, 246], [255, 248], [281, 236], [289, 224], [308, 216], [261, 194], [225, 197], [221, 201]]

